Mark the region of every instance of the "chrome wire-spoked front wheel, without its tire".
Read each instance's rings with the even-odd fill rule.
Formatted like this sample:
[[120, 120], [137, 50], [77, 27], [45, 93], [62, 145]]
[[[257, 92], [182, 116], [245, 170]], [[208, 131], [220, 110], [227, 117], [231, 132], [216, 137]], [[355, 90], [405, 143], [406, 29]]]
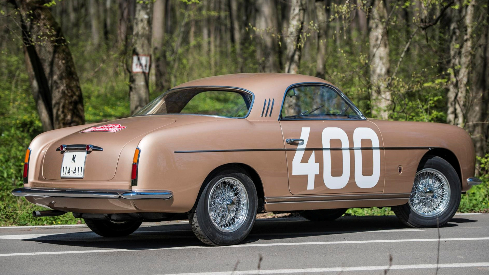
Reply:
[[445, 211], [450, 200], [450, 185], [445, 176], [432, 168], [416, 173], [409, 206], [424, 217], [436, 216]]

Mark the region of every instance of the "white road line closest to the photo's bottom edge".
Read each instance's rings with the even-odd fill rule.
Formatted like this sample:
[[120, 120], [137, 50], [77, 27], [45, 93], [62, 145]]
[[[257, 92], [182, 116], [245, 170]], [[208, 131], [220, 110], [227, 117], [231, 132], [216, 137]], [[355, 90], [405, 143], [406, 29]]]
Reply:
[[420, 268], [454, 268], [454, 267], [486, 267], [489, 262], [480, 263], [452, 263], [452, 264], [420, 264], [420, 265], [380, 265], [380, 266], [352, 266], [352, 267], [326, 267], [326, 268], [300, 268], [300, 269], [269, 269], [269, 270], [245, 270], [224, 272], [198, 272], [198, 273], [174, 273], [166, 275], [254, 275], [254, 274], [289, 274], [289, 273], [313, 273], [313, 272], [344, 272], [344, 271], [370, 271], [386, 269], [420, 269]]

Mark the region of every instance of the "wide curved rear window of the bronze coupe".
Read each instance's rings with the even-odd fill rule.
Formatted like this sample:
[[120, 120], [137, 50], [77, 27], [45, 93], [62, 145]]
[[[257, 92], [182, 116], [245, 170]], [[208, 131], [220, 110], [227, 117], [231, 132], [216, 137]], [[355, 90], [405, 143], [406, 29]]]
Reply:
[[176, 89], [164, 92], [134, 115], [192, 114], [242, 118], [248, 114], [252, 99], [250, 93], [239, 90]]

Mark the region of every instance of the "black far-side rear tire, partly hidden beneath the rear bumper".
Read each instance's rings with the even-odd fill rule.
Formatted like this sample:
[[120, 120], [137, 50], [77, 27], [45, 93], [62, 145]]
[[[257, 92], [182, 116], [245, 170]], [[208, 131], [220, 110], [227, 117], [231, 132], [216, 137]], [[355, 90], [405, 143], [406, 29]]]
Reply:
[[89, 229], [103, 237], [127, 236], [133, 233], [141, 225], [141, 222], [114, 223], [109, 220], [84, 220]]

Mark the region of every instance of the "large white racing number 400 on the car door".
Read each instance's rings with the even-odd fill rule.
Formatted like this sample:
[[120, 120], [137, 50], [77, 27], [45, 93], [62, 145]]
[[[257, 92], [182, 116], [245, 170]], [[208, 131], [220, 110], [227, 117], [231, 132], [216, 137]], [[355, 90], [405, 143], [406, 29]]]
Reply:
[[[303, 127], [301, 131], [301, 139], [304, 140], [302, 144], [297, 146], [294, 158], [292, 160], [292, 175], [307, 175], [307, 189], [314, 189], [314, 176], [319, 174], [319, 163], [315, 162], [314, 151], [312, 151], [311, 157], [308, 162], [301, 162], [304, 156], [304, 149], [306, 149], [307, 141], [309, 139], [309, 133], [311, 128]], [[345, 131], [337, 127], [327, 127], [322, 133], [323, 148], [331, 148], [331, 139], [341, 140], [341, 147], [343, 148], [343, 173], [341, 176], [332, 176], [331, 174], [331, 150], [323, 151], [323, 180], [326, 187], [330, 189], [340, 189], [346, 186], [350, 180], [350, 143]], [[360, 148], [362, 139], [370, 139], [372, 141], [373, 152], [373, 168], [374, 172], [370, 176], [364, 176], [362, 174], [362, 150], [357, 149], [355, 151], [355, 183], [360, 188], [372, 188], [374, 187], [380, 178], [380, 150], [378, 136], [374, 130], [366, 127], [356, 128], [353, 132], [353, 147]], [[375, 148], [375, 149], [374, 149]]]

